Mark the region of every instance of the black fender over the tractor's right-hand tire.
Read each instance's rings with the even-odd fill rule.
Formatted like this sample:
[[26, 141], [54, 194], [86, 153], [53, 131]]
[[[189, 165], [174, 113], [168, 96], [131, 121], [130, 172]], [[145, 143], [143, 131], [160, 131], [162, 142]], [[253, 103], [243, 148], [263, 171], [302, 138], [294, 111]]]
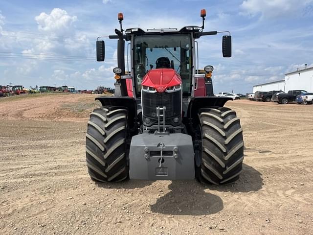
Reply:
[[[193, 97], [190, 99], [187, 109], [187, 118], [190, 128], [194, 128], [199, 123], [198, 112], [201, 108], [223, 107], [230, 97]], [[192, 126], [191, 126], [192, 125]]]

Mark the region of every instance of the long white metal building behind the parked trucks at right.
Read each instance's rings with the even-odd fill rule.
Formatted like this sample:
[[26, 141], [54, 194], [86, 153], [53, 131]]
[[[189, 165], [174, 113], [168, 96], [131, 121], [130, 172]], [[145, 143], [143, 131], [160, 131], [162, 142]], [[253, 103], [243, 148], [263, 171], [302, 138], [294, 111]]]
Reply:
[[268, 82], [253, 86], [253, 93], [257, 91], [285, 91], [290, 90], [305, 90], [313, 92], [313, 67], [303, 70], [297, 70], [285, 74], [284, 80]]

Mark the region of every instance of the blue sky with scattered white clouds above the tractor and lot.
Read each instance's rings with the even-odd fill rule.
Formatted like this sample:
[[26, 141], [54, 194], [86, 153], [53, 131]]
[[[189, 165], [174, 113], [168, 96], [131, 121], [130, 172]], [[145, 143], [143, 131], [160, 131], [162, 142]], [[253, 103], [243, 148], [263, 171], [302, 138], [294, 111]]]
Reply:
[[[27, 2], [27, 3], [26, 3]], [[112, 87], [116, 41], [106, 40], [106, 62], [95, 61], [99, 35], [124, 28], [201, 25], [231, 31], [233, 57], [223, 58], [222, 36], [199, 39], [200, 67], [213, 65], [215, 92], [247, 93], [313, 66], [313, 0], [1, 0], [0, 84]]]

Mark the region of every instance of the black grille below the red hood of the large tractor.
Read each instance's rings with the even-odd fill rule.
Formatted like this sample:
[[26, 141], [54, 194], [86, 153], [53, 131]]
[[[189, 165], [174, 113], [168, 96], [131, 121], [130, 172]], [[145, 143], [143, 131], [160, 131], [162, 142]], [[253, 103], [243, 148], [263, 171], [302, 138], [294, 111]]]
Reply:
[[[144, 118], [150, 118], [151, 122], [146, 123], [147, 126], [156, 124], [156, 107], [166, 107], [165, 120], [166, 124], [177, 126], [180, 124], [181, 118], [181, 90], [172, 93], [149, 93], [142, 91], [142, 112]], [[178, 122], [174, 122], [174, 118], [179, 118]]]

